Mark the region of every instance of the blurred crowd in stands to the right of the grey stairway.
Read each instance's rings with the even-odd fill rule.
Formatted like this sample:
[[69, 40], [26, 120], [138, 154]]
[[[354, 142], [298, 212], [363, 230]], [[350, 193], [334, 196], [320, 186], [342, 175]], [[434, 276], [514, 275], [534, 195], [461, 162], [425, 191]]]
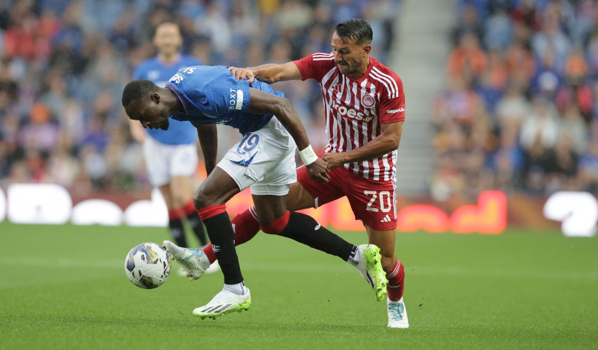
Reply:
[[459, 0], [435, 99], [443, 200], [598, 190], [598, 3]]

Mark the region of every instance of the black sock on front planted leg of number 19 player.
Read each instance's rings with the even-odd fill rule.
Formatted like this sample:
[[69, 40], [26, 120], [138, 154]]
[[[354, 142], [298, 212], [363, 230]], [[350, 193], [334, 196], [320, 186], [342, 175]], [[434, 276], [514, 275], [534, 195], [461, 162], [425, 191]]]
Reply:
[[234, 249], [233, 224], [230, 223], [227, 212], [203, 220], [203, 224], [208, 231], [208, 237], [212, 242], [212, 248], [218, 264], [224, 275], [225, 284], [237, 284], [243, 282], [241, 268], [239, 267], [239, 257]]

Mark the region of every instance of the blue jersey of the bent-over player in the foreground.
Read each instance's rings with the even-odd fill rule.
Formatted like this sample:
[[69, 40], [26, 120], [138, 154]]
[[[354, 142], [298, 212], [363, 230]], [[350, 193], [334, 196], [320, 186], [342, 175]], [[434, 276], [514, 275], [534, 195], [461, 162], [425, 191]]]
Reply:
[[171, 115], [174, 120], [197, 124], [225, 124], [239, 129], [243, 135], [264, 127], [274, 116], [252, 114], [249, 108], [249, 87], [271, 95], [282, 92], [261, 81], [237, 80], [225, 66], [193, 66], [181, 69], [170, 78], [166, 87], [178, 96], [184, 111]]

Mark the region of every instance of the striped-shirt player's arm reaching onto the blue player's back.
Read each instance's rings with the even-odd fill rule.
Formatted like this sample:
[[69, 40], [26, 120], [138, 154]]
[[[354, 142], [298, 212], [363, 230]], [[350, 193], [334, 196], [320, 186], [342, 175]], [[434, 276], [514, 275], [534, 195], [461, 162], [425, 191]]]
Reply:
[[283, 65], [267, 63], [266, 65], [248, 68], [228, 67], [228, 70], [233, 72], [234, 77], [239, 80], [248, 78], [250, 84], [254, 82], [254, 78], [267, 84], [276, 83], [277, 81], [301, 80], [302, 78], [301, 72], [294, 62]]

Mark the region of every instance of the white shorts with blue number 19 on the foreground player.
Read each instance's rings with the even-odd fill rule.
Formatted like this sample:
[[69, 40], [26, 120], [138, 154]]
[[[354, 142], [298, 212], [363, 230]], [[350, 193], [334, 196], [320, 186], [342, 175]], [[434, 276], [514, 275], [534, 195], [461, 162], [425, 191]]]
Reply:
[[295, 141], [272, 117], [266, 126], [247, 133], [218, 163], [240, 190], [250, 187], [252, 194], [283, 196], [297, 182]]

